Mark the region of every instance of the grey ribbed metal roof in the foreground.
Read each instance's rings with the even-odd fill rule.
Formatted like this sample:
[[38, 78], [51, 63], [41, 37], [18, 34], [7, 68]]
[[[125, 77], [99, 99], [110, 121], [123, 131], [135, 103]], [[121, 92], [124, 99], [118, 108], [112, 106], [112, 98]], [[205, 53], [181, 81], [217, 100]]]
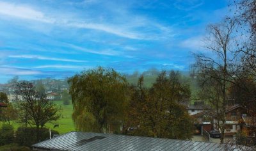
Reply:
[[[205, 143], [179, 139], [148, 138], [101, 134], [94, 132], [68, 132], [32, 146], [33, 150], [227, 150], [220, 143]], [[234, 148], [233, 148], [234, 149]]]

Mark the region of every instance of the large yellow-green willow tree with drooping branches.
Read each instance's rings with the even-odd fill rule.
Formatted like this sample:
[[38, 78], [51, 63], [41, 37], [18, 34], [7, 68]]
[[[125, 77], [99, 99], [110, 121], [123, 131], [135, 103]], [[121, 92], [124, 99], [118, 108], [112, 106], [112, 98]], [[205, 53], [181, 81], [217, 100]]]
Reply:
[[79, 131], [106, 132], [110, 125], [122, 122], [127, 93], [124, 76], [109, 68], [94, 68], [68, 80]]

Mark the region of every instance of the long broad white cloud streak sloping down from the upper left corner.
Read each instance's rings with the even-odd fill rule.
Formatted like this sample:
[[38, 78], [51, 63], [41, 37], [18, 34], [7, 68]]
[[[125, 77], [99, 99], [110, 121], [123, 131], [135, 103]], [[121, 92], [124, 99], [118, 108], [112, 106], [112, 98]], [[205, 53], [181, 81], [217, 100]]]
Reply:
[[48, 24], [54, 24], [55, 26], [65, 26], [71, 28], [80, 29], [93, 29], [97, 31], [104, 31], [116, 36], [131, 39], [146, 39], [145, 35], [141, 35], [138, 32], [130, 31], [122, 26], [113, 26], [111, 24], [99, 24], [95, 22], [84, 22], [81, 19], [68, 19], [65, 16], [51, 17], [45, 15], [44, 12], [35, 10], [31, 6], [6, 3], [0, 1], [0, 14], [7, 15], [8, 17], [15, 17], [24, 20], [33, 20], [38, 22], [44, 22]]

